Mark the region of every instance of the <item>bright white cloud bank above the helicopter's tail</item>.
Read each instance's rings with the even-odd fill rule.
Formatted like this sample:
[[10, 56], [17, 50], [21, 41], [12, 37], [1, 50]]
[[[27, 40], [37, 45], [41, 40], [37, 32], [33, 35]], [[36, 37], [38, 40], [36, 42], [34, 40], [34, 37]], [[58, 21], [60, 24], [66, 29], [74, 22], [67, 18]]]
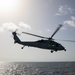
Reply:
[[25, 24], [24, 22], [20, 22], [18, 25], [15, 23], [9, 22], [9, 23], [3, 23], [2, 26], [0, 27], [0, 31], [15, 31], [16, 29], [27, 29], [31, 30], [30, 25]]

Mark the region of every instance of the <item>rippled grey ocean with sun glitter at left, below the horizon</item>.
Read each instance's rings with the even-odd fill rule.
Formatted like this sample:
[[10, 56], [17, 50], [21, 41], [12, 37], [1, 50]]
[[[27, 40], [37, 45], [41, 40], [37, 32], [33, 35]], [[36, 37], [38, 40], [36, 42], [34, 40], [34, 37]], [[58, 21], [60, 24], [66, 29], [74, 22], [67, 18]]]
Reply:
[[0, 75], [75, 75], [75, 62], [0, 62]]

